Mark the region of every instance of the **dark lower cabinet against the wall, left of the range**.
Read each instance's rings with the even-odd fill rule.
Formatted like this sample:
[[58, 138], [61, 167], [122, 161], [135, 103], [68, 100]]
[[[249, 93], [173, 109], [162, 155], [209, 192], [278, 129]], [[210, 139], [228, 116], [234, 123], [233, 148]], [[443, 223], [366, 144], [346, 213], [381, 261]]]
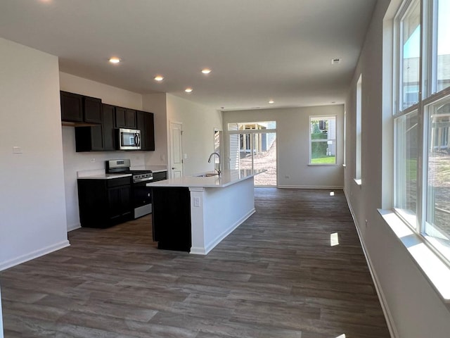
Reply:
[[132, 219], [131, 177], [77, 182], [82, 227], [110, 227]]

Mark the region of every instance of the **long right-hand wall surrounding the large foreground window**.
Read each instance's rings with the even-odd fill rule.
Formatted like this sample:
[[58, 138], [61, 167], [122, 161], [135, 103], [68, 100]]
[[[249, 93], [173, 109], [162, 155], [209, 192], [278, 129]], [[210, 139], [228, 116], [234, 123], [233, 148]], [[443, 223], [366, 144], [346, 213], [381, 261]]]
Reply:
[[[398, 2], [398, 1], [397, 1]], [[377, 208], [392, 201], [392, 137], [383, 139], [384, 128], [392, 133], [391, 110], [383, 115], [383, 17], [390, 1], [378, 1], [366, 35], [364, 48], [354, 73], [346, 102], [347, 167], [345, 193], [361, 234], [368, 260], [380, 287], [388, 320], [398, 338], [447, 338], [450, 336], [449, 308], [439, 299], [420, 273], [404, 246], [378, 215]], [[362, 73], [362, 170], [361, 187], [355, 176], [356, 80]], [[387, 93], [389, 94], [389, 93]], [[390, 132], [391, 130], [391, 132]], [[390, 142], [389, 142], [390, 141]], [[382, 154], [383, 149], [383, 154]], [[386, 170], [387, 168], [387, 170]], [[390, 192], [383, 191], [389, 189]], [[367, 226], [365, 225], [367, 220]]]

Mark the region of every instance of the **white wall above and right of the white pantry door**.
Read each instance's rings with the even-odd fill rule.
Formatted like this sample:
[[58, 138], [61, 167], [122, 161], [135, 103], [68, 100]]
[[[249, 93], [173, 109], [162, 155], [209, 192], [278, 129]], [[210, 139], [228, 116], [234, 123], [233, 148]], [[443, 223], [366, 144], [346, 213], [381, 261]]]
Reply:
[[208, 163], [208, 157], [214, 151], [214, 128], [222, 129], [221, 113], [167, 94], [168, 128], [170, 122], [183, 123], [183, 153], [187, 156], [184, 175], [214, 170], [214, 163]]

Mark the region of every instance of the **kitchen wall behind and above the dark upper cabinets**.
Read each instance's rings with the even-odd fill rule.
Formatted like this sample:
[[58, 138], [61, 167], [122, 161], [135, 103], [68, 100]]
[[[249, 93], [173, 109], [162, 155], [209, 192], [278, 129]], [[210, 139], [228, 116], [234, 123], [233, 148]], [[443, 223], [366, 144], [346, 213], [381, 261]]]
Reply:
[[[143, 108], [141, 94], [67, 73], [60, 73], [60, 90], [94, 96], [102, 99], [102, 102], [105, 104], [139, 110]], [[61, 128], [61, 126], [59, 127]], [[75, 152], [75, 127], [62, 127], [62, 130], [67, 225], [68, 230], [73, 230], [80, 226], [77, 171], [105, 169], [105, 161], [114, 158], [129, 158], [131, 165], [144, 165], [146, 164], [146, 154], [151, 151], [92, 151], [77, 153]]]

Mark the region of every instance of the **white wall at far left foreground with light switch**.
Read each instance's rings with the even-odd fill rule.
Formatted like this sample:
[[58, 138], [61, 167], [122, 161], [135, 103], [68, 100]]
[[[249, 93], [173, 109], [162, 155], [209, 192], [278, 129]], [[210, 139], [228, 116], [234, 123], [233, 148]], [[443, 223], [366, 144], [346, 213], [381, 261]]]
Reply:
[[0, 270], [69, 245], [58, 77], [56, 56], [0, 38]]

